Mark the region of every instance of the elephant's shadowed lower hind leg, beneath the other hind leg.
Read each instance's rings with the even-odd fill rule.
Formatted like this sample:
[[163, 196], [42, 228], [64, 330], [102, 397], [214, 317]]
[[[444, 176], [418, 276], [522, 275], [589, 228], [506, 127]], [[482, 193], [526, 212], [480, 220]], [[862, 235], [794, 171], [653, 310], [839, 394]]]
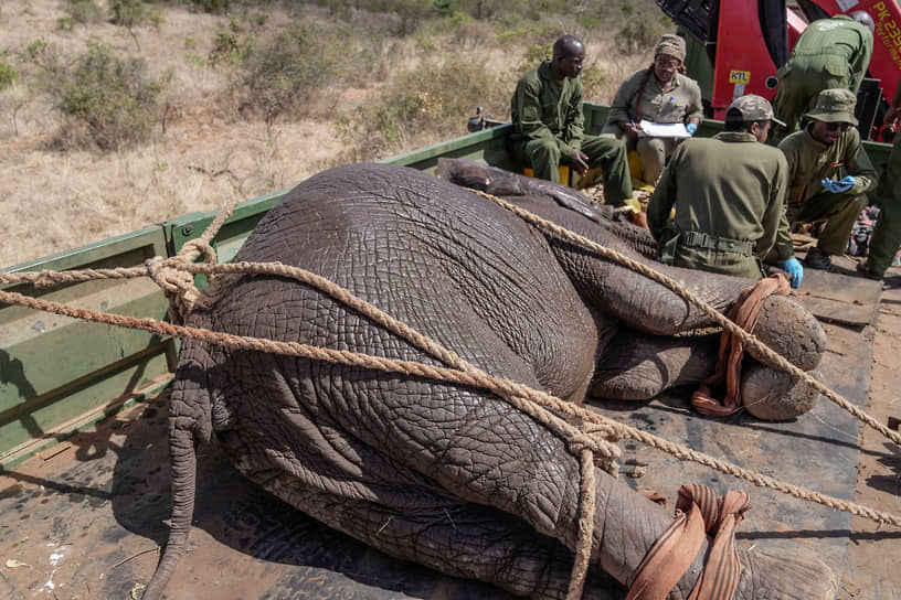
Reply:
[[[507, 513], [453, 497], [444, 504], [398, 511], [309, 489], [290, 476], [265, 483], [290, 503], [303, 495], [305, 511], [312, 517], [390, 556], [490, 582], [516, 596], [565, 598], [574, 555]], [[584, 598], [622, 598], [619, 589], [608, 576], [592, 572]]]

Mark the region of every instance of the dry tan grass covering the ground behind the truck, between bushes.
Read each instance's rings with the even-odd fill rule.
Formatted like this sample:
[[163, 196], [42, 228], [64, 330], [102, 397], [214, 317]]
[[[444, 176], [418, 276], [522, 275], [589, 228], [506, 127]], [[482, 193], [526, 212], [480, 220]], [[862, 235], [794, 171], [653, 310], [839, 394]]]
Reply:
[[[448, 52], [499, 74], [510, 73], [521, 62], [511, 60], [516, 50], [492, 44], [480, 23], [463, 31], [433, 31], [427, 39], [396, 39], [384, 34], [390, 23], [383, 21], [390, 17], [370, 19], [365, 23], [372, 35], [357, 35], [358, 46], [352, 49], [358, 56], [369, 56], [370, 63], [357, 65], [354, 77], [317, 97], [309, 118], [284, 118], [267, 127], [239, 116], [226, 69], [203, 64], [215, 30], [226, 25], [226, 18], [191, 12], [182, 4], [155, 4], [162, 10], [162, 23], [158, 29], [135, 28], [132, 39], [107, 22], [57, 29], [57, 19], [67, 14], [66, 2], [4, 2], [0, 52], [14, 56], [41, 38], [63, 56], [75, 56], [88, 40], [108, 43], [123, 55], [145, 58], [151, 75], [172, 74], [163, 97], [169, 108], [150, 143], [109, 154], [59, 152], [47, 146], [62, 125], [49, 100], [22, 82], [0, 92], [0, 214], [6, 225], [0, 265], [32, 260], [184, 213], [210, 211], [289, 188], [348, 160], [371, 159], [342, 144], [333, 119], [378, 96], [398, 73]], [[292, 17], [277, 9], [267, 14], [267, 26]], [[325, 19], [326, 13], [311, 10], [308, 18]], [[650, 58], [649, 53], [619, 56], [612, 39], [589, 39], [590, 62], [597, 62], [606, 84], [600, 97], [587, 99], [608, 103], [618, 83]], [[473, 109], [480, 101], [473, 98]], [[508, 117], [509, 107], [502, 104], [488, 109]], [[459, 116], [460, 135], [467, 116]], [[434, 141], [434, 132], [423, 131], [402, 150]]]

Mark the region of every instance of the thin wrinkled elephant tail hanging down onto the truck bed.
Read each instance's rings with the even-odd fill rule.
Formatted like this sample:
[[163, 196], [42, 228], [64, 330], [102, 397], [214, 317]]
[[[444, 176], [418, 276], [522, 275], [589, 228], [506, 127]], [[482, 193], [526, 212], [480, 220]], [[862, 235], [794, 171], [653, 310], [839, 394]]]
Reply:
[[194, 514], [194, 492], [197, 490], [197, 453], [194, 436], [190, 430], [173, 427], [169, 435], [169, 454], [172, 470], [172, 518], [169, 525], [169, 542], [166, 544], [157, 570], [141, 597], [142, 600], [159, 600], [162, 590], [176, 570], [188, 543], [191, 519]]

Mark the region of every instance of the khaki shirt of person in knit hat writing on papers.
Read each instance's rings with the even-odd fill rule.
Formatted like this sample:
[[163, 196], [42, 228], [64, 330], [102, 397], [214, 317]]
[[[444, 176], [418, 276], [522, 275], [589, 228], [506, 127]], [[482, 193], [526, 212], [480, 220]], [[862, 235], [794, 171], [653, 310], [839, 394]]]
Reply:
[[[646, 75], [647, 83], [639, 98], [638, 90]], [[619, 86], [611, 104], [607, 124], [629, 120], [638, 122], [640, 119], [651, 122], [688, 122], [692, 118], [703, 118], [701, 88], [698, 83], [677, 73], [672, 88], [664, 92], [657, 76], [643, 68]]]

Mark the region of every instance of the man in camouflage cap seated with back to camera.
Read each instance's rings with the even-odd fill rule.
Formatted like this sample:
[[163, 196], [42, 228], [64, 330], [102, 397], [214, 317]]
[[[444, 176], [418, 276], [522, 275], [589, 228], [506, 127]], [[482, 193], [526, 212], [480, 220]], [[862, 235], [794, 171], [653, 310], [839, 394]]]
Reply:
[[[770, 103], [749, 94], [727, 110], [723, 132], [688, 139], [676, 149], [648, 204], [662, 262], [763, 277], [761, 259], [787, 226], [788, 165], [782, 152], [764, 143], [773, 121]], [[791, 247], [782, 266], [796, 288], [804, 269]]]

